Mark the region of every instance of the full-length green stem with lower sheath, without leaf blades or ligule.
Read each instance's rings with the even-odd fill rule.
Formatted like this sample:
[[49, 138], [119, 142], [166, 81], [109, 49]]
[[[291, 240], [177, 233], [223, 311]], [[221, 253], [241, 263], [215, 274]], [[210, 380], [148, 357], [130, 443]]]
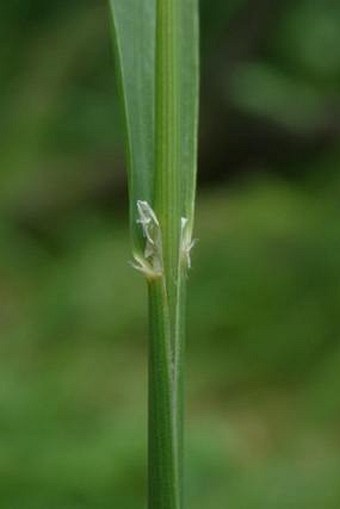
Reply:
[[180, 256], [179, 0], [157, 0], [154, 210], [163, 275], [149, 283], [149, 509], [181, 509], [185, 267]]

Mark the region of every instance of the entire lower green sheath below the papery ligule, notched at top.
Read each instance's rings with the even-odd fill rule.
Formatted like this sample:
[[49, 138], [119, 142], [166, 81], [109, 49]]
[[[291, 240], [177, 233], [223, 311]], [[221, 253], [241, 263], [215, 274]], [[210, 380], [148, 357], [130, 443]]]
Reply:
[[182, 507], [183, 288], [181, 293], [174, 350], [165, 280], [149, 284], [149, 509]]

